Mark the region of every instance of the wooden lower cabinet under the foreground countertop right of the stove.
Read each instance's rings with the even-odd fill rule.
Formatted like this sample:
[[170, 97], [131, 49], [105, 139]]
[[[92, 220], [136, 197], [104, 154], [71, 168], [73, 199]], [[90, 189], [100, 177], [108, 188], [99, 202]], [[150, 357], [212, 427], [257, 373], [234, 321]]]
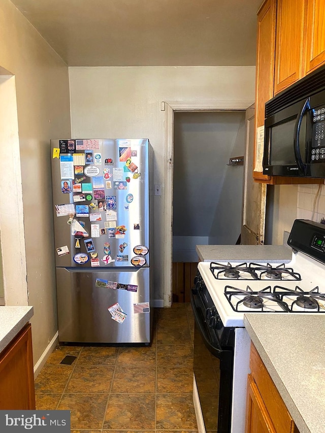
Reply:
[[249, 367], [245, 433], [299, 433], [253, 344]]

